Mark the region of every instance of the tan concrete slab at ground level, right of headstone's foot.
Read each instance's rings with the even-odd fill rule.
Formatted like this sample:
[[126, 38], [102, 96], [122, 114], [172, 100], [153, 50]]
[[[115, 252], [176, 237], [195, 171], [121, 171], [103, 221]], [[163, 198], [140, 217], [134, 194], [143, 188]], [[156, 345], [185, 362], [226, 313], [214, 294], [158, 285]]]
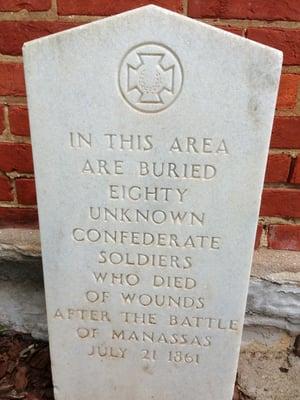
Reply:
[[293, 337], [276, 328], [244, 328], [237, 384], [245, 399], [299, 400], [299, 377]]

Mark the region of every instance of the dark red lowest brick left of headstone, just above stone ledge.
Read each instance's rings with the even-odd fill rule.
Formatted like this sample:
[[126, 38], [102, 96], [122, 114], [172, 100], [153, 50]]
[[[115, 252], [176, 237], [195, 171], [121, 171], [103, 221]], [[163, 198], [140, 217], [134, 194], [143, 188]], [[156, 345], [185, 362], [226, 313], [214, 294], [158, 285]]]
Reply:
[[38, 228], [36, 208], [0, 207], [0, 228]]

